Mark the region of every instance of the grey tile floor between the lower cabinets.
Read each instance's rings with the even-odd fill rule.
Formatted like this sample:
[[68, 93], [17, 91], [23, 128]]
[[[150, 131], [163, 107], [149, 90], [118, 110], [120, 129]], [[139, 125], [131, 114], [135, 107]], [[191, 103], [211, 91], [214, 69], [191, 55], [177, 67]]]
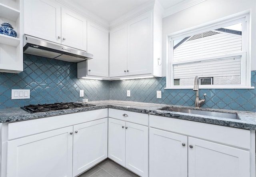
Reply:
[[128, 169], [106, 159], [78, 177], [139, 177]]

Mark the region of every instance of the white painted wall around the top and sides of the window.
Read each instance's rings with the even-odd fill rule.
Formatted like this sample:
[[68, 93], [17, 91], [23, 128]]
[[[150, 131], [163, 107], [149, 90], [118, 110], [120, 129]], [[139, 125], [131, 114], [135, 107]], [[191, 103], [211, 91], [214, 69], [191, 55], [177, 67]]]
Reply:
[[[256, 0], [206, 0], [163, 18], [163, 64], [166, 64], [166, 36], [169, 34], [245, 10], [251, 10], [251, 70], [256, 70]], [[163, 76], [166, 76], [166, 65]]]

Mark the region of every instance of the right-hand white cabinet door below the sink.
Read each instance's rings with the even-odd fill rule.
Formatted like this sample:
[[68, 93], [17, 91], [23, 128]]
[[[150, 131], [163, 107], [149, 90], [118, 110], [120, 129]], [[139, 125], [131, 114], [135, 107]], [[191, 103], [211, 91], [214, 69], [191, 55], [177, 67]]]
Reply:
[[189, 177], [250, 177], [249, 151], [192, 137], [188, 145]]

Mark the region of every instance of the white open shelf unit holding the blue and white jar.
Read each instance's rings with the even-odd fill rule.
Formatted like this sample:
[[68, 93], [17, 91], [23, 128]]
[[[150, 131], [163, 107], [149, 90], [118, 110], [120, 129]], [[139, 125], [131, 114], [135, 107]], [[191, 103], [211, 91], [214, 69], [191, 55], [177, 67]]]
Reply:
[[0, 24], [9, 22], [17, 37], [0, 34], [0, 72], [23, 71], [23, 4], [20, 0], [0, 0]]

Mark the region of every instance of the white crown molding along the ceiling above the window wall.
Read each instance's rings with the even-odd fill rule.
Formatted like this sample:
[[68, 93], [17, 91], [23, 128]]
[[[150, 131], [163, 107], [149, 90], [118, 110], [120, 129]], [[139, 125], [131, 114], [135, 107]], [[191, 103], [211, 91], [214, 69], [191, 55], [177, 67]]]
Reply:
[[175, 14], [177, 12], [180, 12], [186, 8], [190, 8], [192, 6], [195, 6], [196, 4], [199, 4], [201, 2], [204, 2], [206, 0], [185, 0], [183, 2], [180, 2], [176, 4], [175, 6], [172, 6], [166, 10], [164, 10], [163, 18], [170, 16], [172, 14]]

